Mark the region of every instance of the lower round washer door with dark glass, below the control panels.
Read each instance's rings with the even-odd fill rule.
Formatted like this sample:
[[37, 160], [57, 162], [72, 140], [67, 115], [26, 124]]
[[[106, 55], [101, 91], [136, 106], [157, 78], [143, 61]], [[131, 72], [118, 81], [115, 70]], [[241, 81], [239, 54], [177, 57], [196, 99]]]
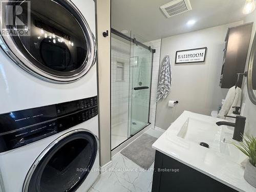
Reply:
[[36, 159], [23, 192], [73, 192], [87, 178], [97, 155], [98, 139], [91, 132], [68, 132]]

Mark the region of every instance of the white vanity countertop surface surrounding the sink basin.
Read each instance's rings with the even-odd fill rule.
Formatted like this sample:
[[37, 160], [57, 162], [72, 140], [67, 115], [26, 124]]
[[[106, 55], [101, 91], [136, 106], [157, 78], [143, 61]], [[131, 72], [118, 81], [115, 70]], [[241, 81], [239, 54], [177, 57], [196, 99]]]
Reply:
[[222, 121], [219, 118], [184, 111], [157, 139], [153, 148], [233, 189], [241, 192], [256, 192], [256, 188], [247, 183], [243, 177], [244, 168], [241, 166], [241, 159], [245, 159], [246, 156], [242, 152], [240, 158], [236, 159], [177, 136], [188, 117], [200, 117], [214, 123]]

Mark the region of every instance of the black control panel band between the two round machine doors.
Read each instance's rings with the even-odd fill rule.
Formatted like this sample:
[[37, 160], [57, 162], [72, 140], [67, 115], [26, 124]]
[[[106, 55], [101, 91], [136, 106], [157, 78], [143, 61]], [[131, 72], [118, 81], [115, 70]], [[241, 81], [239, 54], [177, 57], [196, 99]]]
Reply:
[[97, 97], [0, 115], [0, 153], [65, 131], [98, 114]]

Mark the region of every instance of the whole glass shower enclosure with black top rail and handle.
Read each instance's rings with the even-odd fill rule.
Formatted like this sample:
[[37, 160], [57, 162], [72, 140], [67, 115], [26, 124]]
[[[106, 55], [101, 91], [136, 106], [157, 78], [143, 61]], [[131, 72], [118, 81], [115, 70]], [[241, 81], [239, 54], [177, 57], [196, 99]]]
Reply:
[[111, 32], [111, 148], [149, 122], [153, 53], [138, 35]]

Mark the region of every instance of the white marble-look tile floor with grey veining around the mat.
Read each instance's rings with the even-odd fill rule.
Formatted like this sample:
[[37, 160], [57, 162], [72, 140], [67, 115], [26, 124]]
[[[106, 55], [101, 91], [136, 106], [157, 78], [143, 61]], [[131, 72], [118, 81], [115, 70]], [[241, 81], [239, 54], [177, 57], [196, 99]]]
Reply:
[[[163, 132], [150, 129], [145, 133], [158, 138]], [[153, 168], [154, 163], [150, 169], [145, 170], [118, 153], [112, 158], [112, 165], [106, 168], [106, 170], [103, 170], [99, 179], [89, 191], [150, 192], [152, 188]]]

